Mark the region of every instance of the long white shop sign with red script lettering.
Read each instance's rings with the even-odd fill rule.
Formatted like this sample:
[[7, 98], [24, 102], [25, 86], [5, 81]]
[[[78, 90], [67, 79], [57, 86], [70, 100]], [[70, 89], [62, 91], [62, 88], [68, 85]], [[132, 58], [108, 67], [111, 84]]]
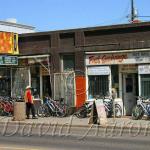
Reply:
[[86, 56], [86, 65], [150, 63], [150, 52], [93, 54]]

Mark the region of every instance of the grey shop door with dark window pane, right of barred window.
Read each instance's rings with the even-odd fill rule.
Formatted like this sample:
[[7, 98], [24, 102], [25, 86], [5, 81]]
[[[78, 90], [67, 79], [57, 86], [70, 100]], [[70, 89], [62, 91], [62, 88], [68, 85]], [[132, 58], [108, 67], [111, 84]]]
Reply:
[[136, 74], [123, 74], [123, 101], [126, 115], [131, 115], [136, 105], [136, 86]]

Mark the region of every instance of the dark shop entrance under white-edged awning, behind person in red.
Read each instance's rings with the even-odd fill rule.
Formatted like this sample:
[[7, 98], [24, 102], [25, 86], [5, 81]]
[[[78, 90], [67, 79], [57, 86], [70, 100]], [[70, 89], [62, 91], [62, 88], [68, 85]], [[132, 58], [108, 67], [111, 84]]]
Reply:
[[[35, 99], [48, 94], [51, 96], [50, 72], [49, 72], [49, 59], [48, 54], [45, 55], [32, 55], [32, 56], [19, 56], [20, 69], [24, 69], [27, 82], [23, 88], [30, 85], [33, 88], [33, 95]], [[21, 70], [18, 70], [22, 72]], [[19, 73], [18, 73], [19, 74]], [[22, 78], [20, 79], [22, 82]]]

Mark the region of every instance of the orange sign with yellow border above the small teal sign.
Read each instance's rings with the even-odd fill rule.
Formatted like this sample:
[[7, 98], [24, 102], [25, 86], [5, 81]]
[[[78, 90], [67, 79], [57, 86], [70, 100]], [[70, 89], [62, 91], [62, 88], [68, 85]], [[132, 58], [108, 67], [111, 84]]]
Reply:
[[0, 32], [0, 54], [19, 54], [18, 34]]

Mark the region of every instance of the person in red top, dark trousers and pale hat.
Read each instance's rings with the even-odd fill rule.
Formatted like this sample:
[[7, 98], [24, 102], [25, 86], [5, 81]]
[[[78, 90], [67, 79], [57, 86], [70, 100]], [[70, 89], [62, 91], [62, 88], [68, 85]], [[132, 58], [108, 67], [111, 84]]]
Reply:
[[35, 108], [33, 104], [33, 97], [31, 93], [31, 86], [26, 87], [25, 96], [24, 96], [25, 102], [26, 102], [26, 115], [27, 119], [30, 118], [30, 110], [32, 112], [32, 119], [37, 119], [35, 116]]

